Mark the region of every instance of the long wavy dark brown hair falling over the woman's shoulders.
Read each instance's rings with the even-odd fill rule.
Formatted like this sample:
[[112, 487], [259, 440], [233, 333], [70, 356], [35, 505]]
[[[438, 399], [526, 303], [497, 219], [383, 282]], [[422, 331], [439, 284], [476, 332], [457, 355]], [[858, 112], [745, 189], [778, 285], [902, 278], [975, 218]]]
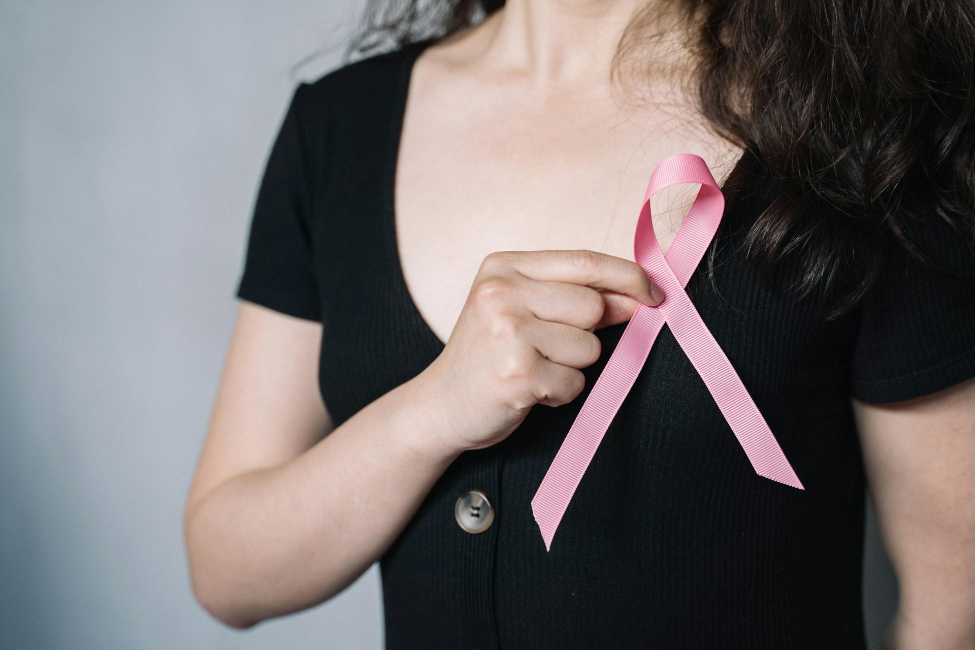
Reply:
[[[873, 284], [888, 244], [944, 270], [917, 246], [912, 221], [943, 219], [975, 247], [975, 2], [666, 2], [689, 35], [701, 114], [729, 141], [758, 147], [783, 181], [745, 235], [764, 278], [799, 255], [790, 288], [841, 287], [833, 319]], [[646, 43], [661, 8], [650, 4], [627, 24], [611, 74]], [[503, 5], [370, 0], [345, 58], [447, 37]], [[919, 220], [909, 193], [923, 196]], [[719, 239], [707, 256], [712, 286]]]

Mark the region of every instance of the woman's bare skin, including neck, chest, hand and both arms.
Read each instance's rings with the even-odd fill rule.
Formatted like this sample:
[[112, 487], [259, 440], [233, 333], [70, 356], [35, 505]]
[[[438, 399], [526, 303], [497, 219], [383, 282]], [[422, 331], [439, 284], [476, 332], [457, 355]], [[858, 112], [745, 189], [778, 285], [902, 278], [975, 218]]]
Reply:
[[[691, 152], [722, 183], [741, 150], [702, 129], [665, 14], [648, 74], [609, 83], [635, 6], [509, 0], [417, 59], [397, 240], [413, 301], [447, 342], [423, 372], [333, 427], [321, 325], [241, 304], [184, 520], [194, 593], [216, 619], [247, 628], [344, 590], [459, 453], [581, 392], [593, 330], [659, 302], [633, 261], [646, 178]], [[651, 199], [662, 249], [695, 191]], [[853, 405], [901, 583], [887, 650], [975, 647], [975, 382]]]

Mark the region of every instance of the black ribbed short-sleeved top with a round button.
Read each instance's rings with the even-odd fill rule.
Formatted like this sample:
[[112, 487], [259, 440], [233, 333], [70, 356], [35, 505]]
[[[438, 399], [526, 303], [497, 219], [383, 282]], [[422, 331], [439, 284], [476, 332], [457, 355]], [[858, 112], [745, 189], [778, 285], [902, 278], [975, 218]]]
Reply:
[[[443, 349], [410, 299], [393, 229], [409, 74], [426, 43], [297, 85], [254, 207], [238, 295], [323, 323], [335, 426]], [[918, 199], [920, 244], [955, 275], [891, 248], [860, 305], [828, 320], [828, 303], [795, 301], [743, 261], [744, 233], [781, 188], [753, 162], [725, 211], [720, 295], [692, 279], [691, 296], [805, 489], [756, 475], [664, 326], [546, 553], [529, 502], [626, 324], [605, 327], [582, 395], [535, 405], [507, 440], [461, 454], [381, 558], [387, 648], [865, 647], [849, 398], [900, 401], [975, 376], [975, 261]], [[454, 518], [470, 490], [495, 515], [479, 534]]]

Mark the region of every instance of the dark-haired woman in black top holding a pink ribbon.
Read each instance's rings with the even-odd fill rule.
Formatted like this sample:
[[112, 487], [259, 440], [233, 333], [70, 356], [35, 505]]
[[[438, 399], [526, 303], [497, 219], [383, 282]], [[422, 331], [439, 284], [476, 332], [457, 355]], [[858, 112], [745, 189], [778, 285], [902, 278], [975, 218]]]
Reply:
[[[388, 648], [863, 648], [869, 484], [887, 647], [975, 644], [971, 4], [413, 4], [298, 85], [267, 161], [186, 508], [201, 603], [246, 628], [378, 560]], [[634, 228], [679, 153], [727, 199], [688, 294], [804, 489], [664, 327], [547, 551], [532, 495], [666, 299]]]

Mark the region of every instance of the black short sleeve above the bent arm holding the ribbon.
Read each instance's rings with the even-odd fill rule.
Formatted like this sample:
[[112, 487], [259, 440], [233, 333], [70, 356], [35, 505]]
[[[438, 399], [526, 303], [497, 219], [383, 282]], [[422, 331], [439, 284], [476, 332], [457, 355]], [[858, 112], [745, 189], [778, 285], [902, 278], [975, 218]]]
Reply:
[[237, 297], [289, 316], [321, 321], [309, 227], [309, 157], [302, 121], [309, 88], [304, 82], [295, 87], [266, 160]]

